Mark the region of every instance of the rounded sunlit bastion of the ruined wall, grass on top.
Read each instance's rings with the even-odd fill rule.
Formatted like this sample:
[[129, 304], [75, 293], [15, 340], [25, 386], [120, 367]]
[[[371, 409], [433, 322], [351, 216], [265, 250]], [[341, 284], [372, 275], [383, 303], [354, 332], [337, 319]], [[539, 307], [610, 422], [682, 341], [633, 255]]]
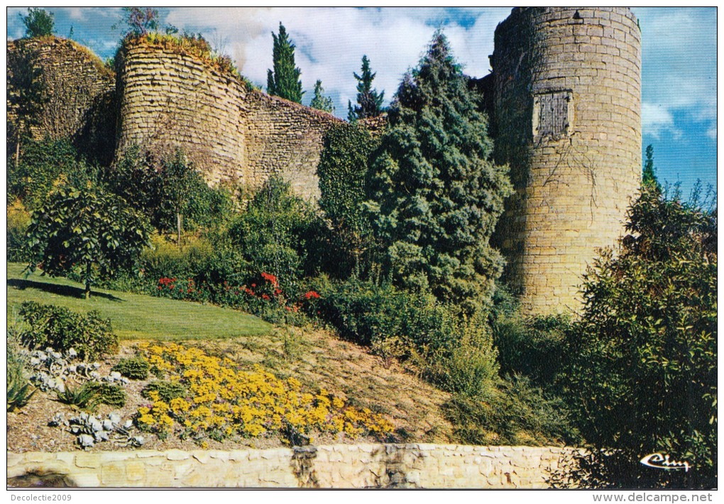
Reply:
[[117, 156], [138, 146], [156, 158], [182, 149], [209, 182], [245, 178], [246, 86], [192, 54], [127, 43], [117, 61]]

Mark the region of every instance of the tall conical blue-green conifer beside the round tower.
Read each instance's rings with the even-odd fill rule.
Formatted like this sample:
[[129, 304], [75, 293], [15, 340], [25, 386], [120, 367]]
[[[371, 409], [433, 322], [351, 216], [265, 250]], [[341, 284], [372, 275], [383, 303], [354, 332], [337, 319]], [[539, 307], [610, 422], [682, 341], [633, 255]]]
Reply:
[[489, 238], [511, 191], [479, 100], [436, 33], [397, 91], [367, 203], [392, 279], [468, 313], [489, 304], [500, 276]]

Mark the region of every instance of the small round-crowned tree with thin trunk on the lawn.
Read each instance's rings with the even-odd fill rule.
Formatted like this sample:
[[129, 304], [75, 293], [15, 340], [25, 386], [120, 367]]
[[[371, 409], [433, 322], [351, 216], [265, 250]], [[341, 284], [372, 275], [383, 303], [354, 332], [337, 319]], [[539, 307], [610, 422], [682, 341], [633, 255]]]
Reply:
[[126, 202], [90, 183], [83, 188], [60, 188], [37, 211], [28, 227], [30, 271], [56, 277], [80, 266], [85, 298], [101, 274], [132, 269], [148, 243], [148, 224]]

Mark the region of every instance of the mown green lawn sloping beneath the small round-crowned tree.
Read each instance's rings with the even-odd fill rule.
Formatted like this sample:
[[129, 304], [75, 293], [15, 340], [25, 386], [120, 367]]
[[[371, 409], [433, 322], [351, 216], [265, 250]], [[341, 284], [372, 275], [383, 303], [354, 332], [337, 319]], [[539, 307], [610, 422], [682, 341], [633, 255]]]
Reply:
[[7, 314], [14, 319], [23, 301], [65, 306], [74, 311], [97, 310], [111, 319], [122, 339], [198, 340], [265, 335], [271, 331], [256, 316], [230, 308], [201, 305], [148, 295], [93, 288], [83, 299], [83, 285], [64, 278], [26, 277], [23, 264], [7, 264]]

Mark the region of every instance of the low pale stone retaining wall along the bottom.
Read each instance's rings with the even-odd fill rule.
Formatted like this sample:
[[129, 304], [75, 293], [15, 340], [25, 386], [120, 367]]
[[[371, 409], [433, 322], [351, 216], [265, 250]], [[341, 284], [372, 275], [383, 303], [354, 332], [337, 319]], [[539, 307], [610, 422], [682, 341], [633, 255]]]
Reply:
[[8, 486], [545, 488], [573, 448], [331, 445], [8, 453]]

